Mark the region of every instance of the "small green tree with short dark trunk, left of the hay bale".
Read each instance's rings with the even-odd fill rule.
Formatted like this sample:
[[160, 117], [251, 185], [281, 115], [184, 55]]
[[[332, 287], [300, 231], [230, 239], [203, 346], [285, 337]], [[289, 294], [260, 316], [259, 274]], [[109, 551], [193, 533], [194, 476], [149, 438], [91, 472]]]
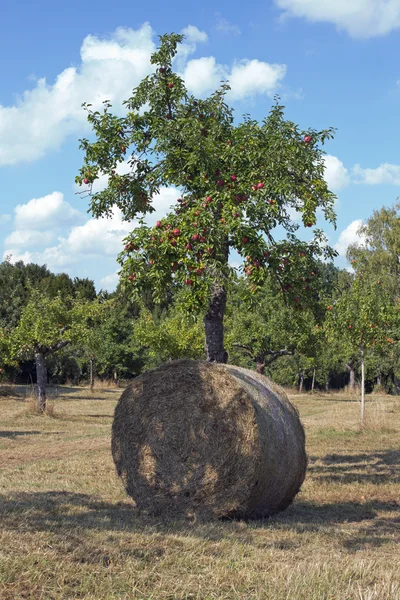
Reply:
[[33, 357], [36, 364], [38, 410], [46, 408], [46, 357], [71, 343], [83, 343], [90, 327], [101, 318], [104, 304], [82, 299], [49, 298], [31, 290], [18, 325], [9, 334], [10, 358]]

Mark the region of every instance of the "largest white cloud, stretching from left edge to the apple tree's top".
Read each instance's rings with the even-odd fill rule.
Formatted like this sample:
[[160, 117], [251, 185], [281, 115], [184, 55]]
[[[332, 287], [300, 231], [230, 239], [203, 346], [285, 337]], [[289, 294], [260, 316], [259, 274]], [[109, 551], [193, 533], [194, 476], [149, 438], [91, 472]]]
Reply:
[[117, 110], [154, 68], [152, 36], [148, 23], [137, 31], [119, 28], [107, 40], [88, 35], [79, 68], [65, 69], [54, 84], [41, 78], [14, 106], [0, 106], [0, 166], [41, 158], [68, 135], [89, 130], [82, 102], [99, 108], [108, 99]]

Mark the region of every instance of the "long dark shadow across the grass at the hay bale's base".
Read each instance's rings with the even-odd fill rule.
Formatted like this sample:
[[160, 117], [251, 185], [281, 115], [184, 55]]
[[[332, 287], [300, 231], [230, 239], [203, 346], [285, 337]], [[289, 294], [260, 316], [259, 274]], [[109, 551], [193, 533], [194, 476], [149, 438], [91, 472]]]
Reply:
[[[76, 508], [80, 510], [74, 510]], [[385, 511], [389, 516], [378, 517], [378, 511]], [[25, 518], [25, 513], [29, 514], [29, 519]], [[129, 501], [110, 503], [88, 494], [62, 491], [18, 492], [11, 497], [0, 495], [0, 521], [4, 531], [20, 533], [52, 532], [64, 535], [78, 529], [149, 535], [190, 533], [208, 541], [235, 536], [246, 543], [253, 541], [252, 532], [259, 529], [290, 531], [301, 536], [313, 532], [329, 534], [331, 526], [360, 523], [354, 535], [346, 536], [341, 542], [349, 551], [400, 541], [400, 504], [375, 500], [364, 504], [296, 502], [284, 513], [269, 519], [242, 519], [248, 524], [247, 529], [240, 528], [232, 532], [226, 520], [193, 521], [183, 516], [171, 520], [163, 515], [154, 516], [141, 511]], [[238, 519], [230, 521], [236, 522]], [[301, 543], [301, 538], [292, 541], [289, 546], [283, 544], [282, 548], [279, 540], [273, 541], [273, 544], [280, 549], [290, 549]]]

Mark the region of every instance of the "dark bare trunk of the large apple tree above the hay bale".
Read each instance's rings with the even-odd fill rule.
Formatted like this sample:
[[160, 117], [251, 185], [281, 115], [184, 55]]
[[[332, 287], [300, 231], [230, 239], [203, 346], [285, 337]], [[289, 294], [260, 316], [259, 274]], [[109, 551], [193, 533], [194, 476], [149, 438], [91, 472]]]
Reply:
[[226, 290], [215, 283], [213, 295], [204, 317], [206, 333], [206, 354], [208, 362], [228, 362], [228, 353], [224, 348], [224, 314], [226, 308]]

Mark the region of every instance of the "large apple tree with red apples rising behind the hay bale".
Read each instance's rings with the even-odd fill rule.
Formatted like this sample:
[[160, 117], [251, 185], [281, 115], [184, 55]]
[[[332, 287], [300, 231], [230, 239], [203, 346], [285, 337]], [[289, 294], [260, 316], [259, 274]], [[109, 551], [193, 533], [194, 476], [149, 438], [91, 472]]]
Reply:
[[[189, 95], [173, 70], [182, 40], [160, 36], [153, 73], [124, 102], [125, 116], [111, 114], [109, 101], [103, 112], [83, 105], [96, 139], [80, 140], [85, 157], [76, 182], [87, 186], [94, 217], [118, 207], [125, 220], [139, 219], [119, 256], [132, 294], [150, 290], [161, 302], [171, 284], [182, 288], [185, 308], [204, 314], [207, 360], [226, 362], [230, 253], [243, 257], [251, 293], [273, 274], [288, 301], [300, 306], [313, 294], [315, 259], [334, 254], [319, 229], [309, 243], [295, 235], [296, 213], [306, 228], [315, 226], [317, 209], [335, 221], [321, 149], [333, 129], [300, 130], [278, 101], [261, 123], [248, 115], [235, 122], [227, 83], [206, 99]], [[131, 170], [120, 175], [125, 160]], [[104, 175], [107, 187], [92, 193]], [[161, 186], [175, 186], [181, 197], [149, 227], [145, 217]], [[282, 242], [273, 237], [278, 226], [287, 235]]]

